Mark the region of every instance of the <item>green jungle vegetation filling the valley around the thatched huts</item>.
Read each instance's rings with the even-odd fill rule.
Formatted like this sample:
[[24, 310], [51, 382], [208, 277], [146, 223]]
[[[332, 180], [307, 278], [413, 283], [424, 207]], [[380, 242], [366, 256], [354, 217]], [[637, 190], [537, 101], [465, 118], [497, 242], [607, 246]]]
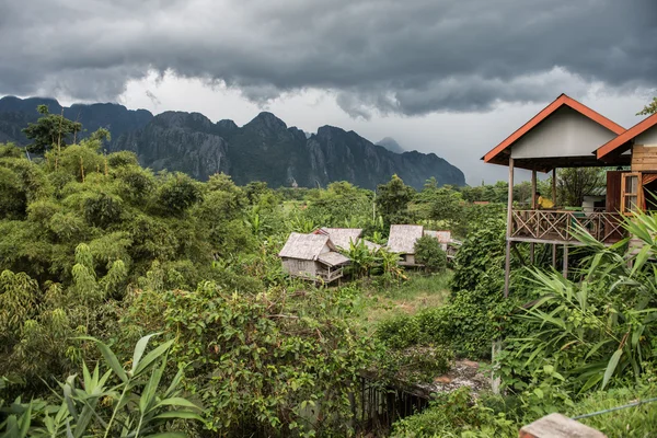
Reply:
[[[429, 180], [417, 192], [393, 176], [376, 194], [345, 182], [238, 186], [223, 174], [201, 183], [104, 153], [106, 132], [77, 143], [34, 132], [50, 145], [41, 157], [0, 146], [8, 437], [357, 436], [371, 431], [353, 411], [364, 371], [427, 381], [454, 358], [495, 371], [503, 395], [440, 394], [377, 433], [512, 437], [551, 412], [657, 393], [652, 215], [626, 224], [641, 252], [583, 234], [567, 278], [546, 260], [517, 265], [505, 300], [504, 183], [457, 189]], [[291, 231], [358, 227], [383, 243], [395, 222], [451, 229], [463, 245], [447, 264], [423, 240], [427, 272], [417, 273], [400, 269], [395, 254], [351, 245], [350, 280], [338, 286], [290, 279], [277, 258]], [[420, 288], [435, 306], [373, 314]], [[491, 361], [496, 339], [503, 353]], [[656, 417], [644, 405], [585, 422], [643, 437]]]

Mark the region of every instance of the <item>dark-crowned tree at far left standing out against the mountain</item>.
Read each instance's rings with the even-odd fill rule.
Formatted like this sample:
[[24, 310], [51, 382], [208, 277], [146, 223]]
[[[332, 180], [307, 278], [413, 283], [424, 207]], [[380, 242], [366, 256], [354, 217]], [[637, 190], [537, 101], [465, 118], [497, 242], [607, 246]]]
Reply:
[[69, 120], [64, 115], [50, 114], [46, 105], [38, 105], [36, 111], [43, 117], [23, 129], [25, 137], [33, 141], [27, 146], [30, 152], [44, 153], [50, 148], [65, 148], [69, 136], [82, 130], [82, 124]]

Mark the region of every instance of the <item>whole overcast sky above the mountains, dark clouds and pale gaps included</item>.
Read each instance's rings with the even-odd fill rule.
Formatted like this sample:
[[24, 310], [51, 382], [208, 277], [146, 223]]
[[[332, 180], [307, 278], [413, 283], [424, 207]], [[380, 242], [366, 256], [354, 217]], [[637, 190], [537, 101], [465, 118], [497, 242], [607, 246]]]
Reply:
[[354, 129], [480, 158], [562, 92], [630, 127], [657, 94], [657, 0], [0, 2], [0, 95]]

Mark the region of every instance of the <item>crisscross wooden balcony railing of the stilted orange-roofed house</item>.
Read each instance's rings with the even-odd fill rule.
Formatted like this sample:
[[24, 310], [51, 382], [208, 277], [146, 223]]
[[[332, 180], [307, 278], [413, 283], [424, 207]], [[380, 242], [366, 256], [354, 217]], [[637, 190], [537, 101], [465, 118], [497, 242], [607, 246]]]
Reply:
[[548, 242], [576, 241], [573, 230], [584, 228], [596, 240], [612, 243], [625, 232], [621, 215], [601, 211], [514, 210], [511, 239]]

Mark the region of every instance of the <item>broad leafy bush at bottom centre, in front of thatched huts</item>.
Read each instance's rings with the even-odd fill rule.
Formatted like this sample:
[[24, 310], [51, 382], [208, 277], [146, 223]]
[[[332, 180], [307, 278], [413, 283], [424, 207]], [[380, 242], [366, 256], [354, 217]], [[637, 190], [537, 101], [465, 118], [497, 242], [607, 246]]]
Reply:
[[327, 289], [238, 295], [207, 281], [193, 292], [142, 291], [124, 327], [176, 335], [172, 358], [191, 364], [186, 388], [211, 430], [346, 436], [348, 394], [372, 355], [346, 321], [351, 310], [350, 298]]

